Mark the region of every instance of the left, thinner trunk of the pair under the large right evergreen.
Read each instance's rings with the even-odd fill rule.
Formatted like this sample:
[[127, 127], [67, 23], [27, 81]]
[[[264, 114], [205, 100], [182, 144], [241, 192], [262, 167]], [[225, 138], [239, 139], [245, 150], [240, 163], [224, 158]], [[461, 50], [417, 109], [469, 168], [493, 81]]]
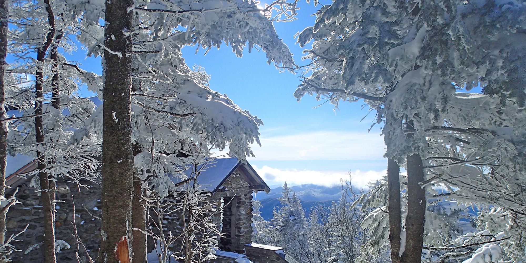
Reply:
[[400, 166], [393, 159], [387, 159], [387, 187], [389, 191], [389, 241], [391, 262], [400, 263], [400, 232], [402, 216], [400, 207]]

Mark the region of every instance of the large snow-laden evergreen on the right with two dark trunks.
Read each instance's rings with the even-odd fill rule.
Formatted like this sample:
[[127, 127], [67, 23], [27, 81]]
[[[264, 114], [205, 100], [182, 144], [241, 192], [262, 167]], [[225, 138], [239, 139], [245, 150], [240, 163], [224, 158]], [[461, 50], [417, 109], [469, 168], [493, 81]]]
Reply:
[[[520, 85], [524, 77], [517, 70], [523, 60], [520, 51], [523, 44], [513, 44], [514, 39], [523, 37], [524, 7], [523, 3], [499, 1], [342, 0], [322, 7], [316, 24], [299, 35], [301, 45], [311, 39], [315, 42], [312, 49], [306, 50], [306, 57], [312, 59], [312, 75], [304, 78], [296, 96], [316, 93], [318, 98], [327, 97], [335, 105], [340, 100], [365, 99], [377, 110], [378, 123], [385, 122], [391, 195], [398, 196], [400, 191], [399, 179], [390, 180], [398, 177], [397, 166], [403, 165], [408, 170], [409, 213], [404, 249], [398, 241], [401, 215], [394, 212], [401, 208], [399, 199], [390, 199], [389, 204], [393, 262], [417, 262], [421, 258], [427, 203], [424, 188], [440, 181], [428, 181], [440, 175], [431, 175], [433, 171], [428, 168], [435, 165], [429, 164], [429, 158], [449, 161], [457, 158], [450, 154], [433, 156], [435, 146], [446, 149], [448, 143], [442, 144], [442, 139], [428, 141], [434, 135], [430, 131], [433, 127], [447, 126], [440, 128], [444, 130], [442, 135], [448, 136], [447, 141], [456, 137], [451, 135], [452, 129], [469, 133], [466, 126], [472, 122], [457, 122], [456, 117], [444, 116], [465, 114], [450, 108], [458, 103], [454, 99], [456, 89], [481, 85], [487, 94], [500, 95], [502, 106], [524, 105], [524, 89]], [[495, 108], [501, 106], [494, 104]], [[482, 108], [471, 116], [488, 119], [487, 114], [496, 116]], [[513, 115], [506, 116], [514, 119]], [[517, 144], [522, 143], [519, 140]], [[483, 144], [471, 147], [484, 153]], [[494, 154], [487, 156], [491, 158]], [[463, 165], [468, 163], [473, 161], [453, 166], [465, 168]], [[457, 172], [451, 173], [451, 177], [459, 176]]]

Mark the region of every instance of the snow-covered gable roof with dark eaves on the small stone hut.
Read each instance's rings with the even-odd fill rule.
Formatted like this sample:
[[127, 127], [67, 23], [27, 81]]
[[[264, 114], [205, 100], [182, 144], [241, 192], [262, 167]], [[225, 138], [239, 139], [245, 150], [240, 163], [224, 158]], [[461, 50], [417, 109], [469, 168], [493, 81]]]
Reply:
[[225, 181], [230, 177], [234, 171], [238, 170], [250, 185], [250, 189], [254, 191], [263, 190], [265, 193], [270, 191], [270, 188], [263, 179], [256, 173], [256, 170], [250, 166], [248, 161], [242, 162], [237, 157], [229, 158], [215, 158], [203, 165], [190, 166], [184, 171], [188, 179], [181, 179], [170, 175], [171, 180], [176, 186], [186, 183], [193, 183], [197, 171], [197, 185], [199, 189], [209, 191], [215, 194]]

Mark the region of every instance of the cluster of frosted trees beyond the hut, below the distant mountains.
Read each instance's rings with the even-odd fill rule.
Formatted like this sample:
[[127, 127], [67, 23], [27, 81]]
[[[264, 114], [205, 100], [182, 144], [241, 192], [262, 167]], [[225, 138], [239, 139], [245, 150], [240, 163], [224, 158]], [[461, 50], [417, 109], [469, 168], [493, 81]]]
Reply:
[[[273, 217], [269, 221], [260, 219], [257, 222], [265, 229], [259, 227], [259, 230], [256, 226], [261, 232], [255, 233], [255, 240], [262, 244], [283, 246], [301, 262], [384, 262], [380, 259], [385, 259], [385, 246], [381, 251], [366, 251], [363, 257], [360, 254], [362, 246], [383, 241], [378, 237], [374, 239], [368, 228], [370, 226], [362, 227], [364, 219], [377, 208], [373, 200], [381, 199], [377, 196], [383, 188], [376, 187], [376, 190], [366, 194], [353, 189], [350, 182], [343, 182], [339, 200], [333, 201], [329, 207], [321, 204], [312, 207], [306, 218], [294, 191], [285, 184], [279, 198], [281, 205], [274, 208]], [[386, 199], [381, 199], [381, 202], [385, 203]], [[371, 228], [371, 231], [374, 229]]]

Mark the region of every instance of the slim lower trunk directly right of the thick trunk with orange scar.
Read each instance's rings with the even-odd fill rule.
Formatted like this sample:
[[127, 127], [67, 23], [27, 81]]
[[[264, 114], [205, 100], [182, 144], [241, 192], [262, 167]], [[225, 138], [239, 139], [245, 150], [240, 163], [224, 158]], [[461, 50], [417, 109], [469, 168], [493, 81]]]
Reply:
[[131, 222], [133, 228], [133, 262], [146, 263], [146, 208], [143, 196], [143, 182], [140, 178], [135, 177], [133, 181], [134, 196], [131, 201]]

